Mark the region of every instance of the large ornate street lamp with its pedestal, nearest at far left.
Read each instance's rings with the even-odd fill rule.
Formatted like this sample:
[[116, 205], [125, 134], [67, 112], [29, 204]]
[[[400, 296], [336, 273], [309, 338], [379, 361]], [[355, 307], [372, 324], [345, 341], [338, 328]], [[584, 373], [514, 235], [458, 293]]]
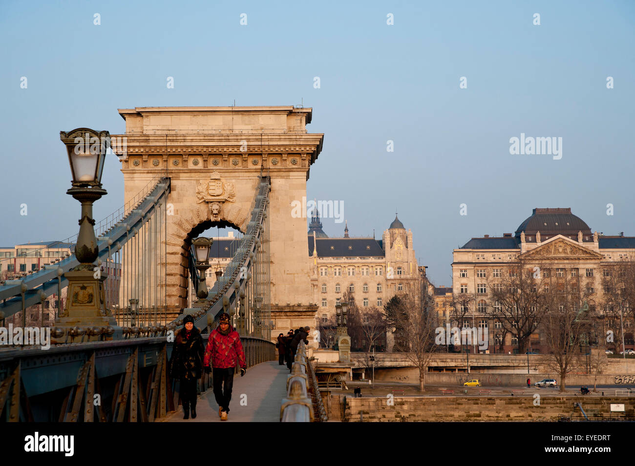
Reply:
[[[66, 146], [72, 176], [72, 188], [66, 193], [81, 203], [81, 218], [75, 246], [75, 257], [79, 265], [64, 274], [69, 281], [69, 299], [65, 308], [60, 310], [55, 325], [71, 337], [81, 336], [73, 328], [104, 327], [104, 334], [111, 339], [111, 335], [115, 333], [114, 328], [121, 328], [117, 327], [115, 318], [105, 307], [106, 274], [94, 264], [99, 249], [93, 219], [93, 202], [107, 194], [102, 188], [102, 172], [106, 152], [110, 147], [110, 134], [108, 131], [77, 128], [69, 133], [60, 131], [60, 140]], [[88, 334], [86, 337], [87, 340], [99, 338], [98, 335]]]

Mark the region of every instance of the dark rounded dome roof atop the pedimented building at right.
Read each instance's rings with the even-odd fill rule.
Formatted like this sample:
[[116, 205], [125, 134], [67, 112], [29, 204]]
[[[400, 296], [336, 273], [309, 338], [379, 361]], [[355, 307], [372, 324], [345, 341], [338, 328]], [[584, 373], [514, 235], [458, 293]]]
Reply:
[[525, 235], [535, 235], [540, 231], [540, 235], [577, 235], [582, 231], [583, 235], [591, 235], [591, 228], [584, 220], [571, 213], [571, 208], [566, 209], [533, 209], [531, 217], [528, 217], [520, 224], [515, 236], [520, 236], [525, 231]]

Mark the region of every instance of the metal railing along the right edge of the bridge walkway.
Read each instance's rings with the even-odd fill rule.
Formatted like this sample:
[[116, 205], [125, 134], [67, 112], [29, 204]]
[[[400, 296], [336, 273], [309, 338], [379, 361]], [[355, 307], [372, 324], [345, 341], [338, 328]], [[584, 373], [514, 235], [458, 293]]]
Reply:
[[291, 375], [286, 380], [286, 398], [282, 400], [280, 421], [321, 422], [326, 419], [318, 381], [311, 361], [307, 359], [304, 341], [300, 341], [291, 365]]

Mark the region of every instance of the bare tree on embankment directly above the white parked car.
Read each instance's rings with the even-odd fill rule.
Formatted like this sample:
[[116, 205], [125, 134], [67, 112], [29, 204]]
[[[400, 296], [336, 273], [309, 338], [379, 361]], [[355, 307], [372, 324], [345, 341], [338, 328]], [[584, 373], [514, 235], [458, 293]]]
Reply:
[[[542, 332], [551, 351], [547, 366], [559, 373], [560, 391], [566, 389], [566, 375], [581, 366], [578, 347], [587, 351], [592, 343], [593, 324], [587, 292], [577, 274], [558, 269], [542, 299]], [[573, 276], [572, 276], [573, 275]]]

